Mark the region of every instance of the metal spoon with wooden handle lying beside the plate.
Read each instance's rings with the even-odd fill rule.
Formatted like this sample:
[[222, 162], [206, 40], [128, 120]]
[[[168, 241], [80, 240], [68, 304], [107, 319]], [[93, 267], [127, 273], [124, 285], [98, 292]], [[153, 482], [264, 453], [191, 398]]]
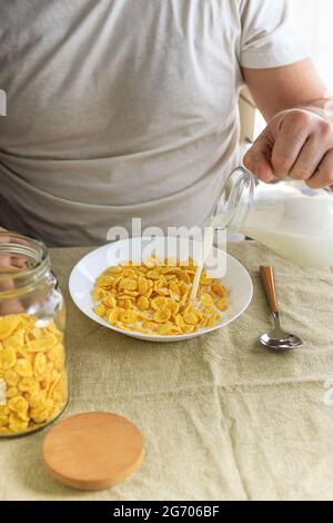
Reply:
[[291, 351], [301, 347], [303, 345], [302, 339], [300, 339], [297, 336], [294, 336], [293, 334], [283, 332], [281, 328], [273, 268], [260, 267], [260, 273], [275, 324], [275, 328], [272, 333], [263, 334], [260, 337], [260, 343], [265, 347], [270, 347], [275, 351]]

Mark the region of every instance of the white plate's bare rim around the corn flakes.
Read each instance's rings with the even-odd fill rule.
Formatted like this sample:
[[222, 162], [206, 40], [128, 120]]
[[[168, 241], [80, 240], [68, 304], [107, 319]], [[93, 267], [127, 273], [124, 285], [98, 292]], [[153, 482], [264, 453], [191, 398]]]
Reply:
[[[230, 290], [230, 305], [229, 309], [223, 313], [221, 322], [214, 327], [201, 329], [192, 334], [176, 336], [148, 335], [138, 332], [130, 333], [113, 327], [92, 310], [93, 303], [91, 299], [91, 290], [93, 289], [97, 277], [103, 270], [110, 266], [117, 266], [121, 262], [127, 262], [128, 259], [138, 257], [142, 253], [142, 247], [144, 248], [144, 257], [150, 256], [154, 251], [158, 257], [163, 259], [165, 254], [165, 245], [168, 247], [168, 256], [179, 259], [179, 245], [184, 247], [184, 249], [181, 250], [181, 253], [184, 253], [186, 251], [186, 247], [189, 245], [195, 245], [195, 241], [179, 238], [178, 244], [175, 245], [174, 238], [168, 237], [154, 238], [153, 243], [152, 238], [131, 238], [114, 241], [92, 250], [87, 256], [84, 256], [71, 272], [69, 279], [69, 290], [73, 302], [83, 314], [94, 322], [103, 325], [104, 327], [124, 334], [125, 336], [150, 342], [180, 342], [184, 339], [191, 339], [196, 336], [202, 336], [203, 334], [208, 334], [219, 328], [225, 327], [231, 322], [234, 322], [236, 318], [239, 318], [246, 310], [253, 295], [253, 285], [250, 275], [236, 259], [230, 255], [225, 255], [221, 249], [216, 249], [215, 247], [213, 251], [215, 256], [226, 256], [225, 275], [223, 278], [221, 278], [221, 282]], [[130, 257], [129, 251], [132, 254]]]

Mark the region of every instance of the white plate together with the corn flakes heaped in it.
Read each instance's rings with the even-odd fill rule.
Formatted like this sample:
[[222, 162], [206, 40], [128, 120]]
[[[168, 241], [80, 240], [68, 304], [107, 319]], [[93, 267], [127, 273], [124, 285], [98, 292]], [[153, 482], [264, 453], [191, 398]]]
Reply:
[[244, 313], [253, 287], [244, 267], [214, 248], [223, 277], [204, 269], [192, 304], [199, 249], [195, 241], [168, 237], [104, 245], [73, 268], [70, 294], [91, 319], [131, 337], [179, 342], [208, 334]]

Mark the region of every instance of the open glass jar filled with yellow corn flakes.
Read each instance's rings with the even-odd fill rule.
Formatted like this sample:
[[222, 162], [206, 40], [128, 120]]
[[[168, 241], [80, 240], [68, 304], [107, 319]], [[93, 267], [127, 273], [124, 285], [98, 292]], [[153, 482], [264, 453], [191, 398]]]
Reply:
[[0, 436], [42, 428], [64, 409], [64, 324], [46, 246], [0, 233]]

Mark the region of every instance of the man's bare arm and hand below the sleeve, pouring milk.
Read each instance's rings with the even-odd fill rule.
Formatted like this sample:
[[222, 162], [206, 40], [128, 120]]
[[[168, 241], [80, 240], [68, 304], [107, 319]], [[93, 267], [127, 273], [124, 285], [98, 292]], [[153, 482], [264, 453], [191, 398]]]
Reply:
[[260, 179], [290, 176], [314, 188], [333, 185], [333, 100], [311, 60], [272, 69], [243, 69], [269, 121], [244, 157]]

